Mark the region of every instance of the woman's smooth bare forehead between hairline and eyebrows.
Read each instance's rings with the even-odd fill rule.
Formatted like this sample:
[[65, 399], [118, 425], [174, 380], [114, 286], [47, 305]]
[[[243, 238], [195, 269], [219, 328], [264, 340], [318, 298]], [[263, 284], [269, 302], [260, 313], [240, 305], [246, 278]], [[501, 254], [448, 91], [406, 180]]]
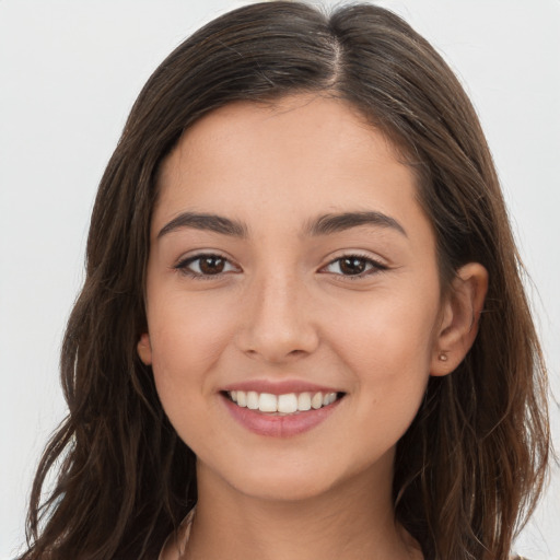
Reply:
[[189, 209], [284, 221], [419, 210], [413, 173], [386, 136], [347, 102], [317, 95], [210, 113], [166, 159], [159, 188], [154, 226]]

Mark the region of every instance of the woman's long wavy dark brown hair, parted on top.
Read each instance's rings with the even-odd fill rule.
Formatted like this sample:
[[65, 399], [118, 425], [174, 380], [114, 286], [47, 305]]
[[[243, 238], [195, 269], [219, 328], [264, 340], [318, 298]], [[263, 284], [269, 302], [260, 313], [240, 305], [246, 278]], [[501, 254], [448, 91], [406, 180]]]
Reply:
[[346, 100], [399, 148], [436, 234], [444, 288], [466, 262], [488, 269], [472, 349], [453, 374], [430, 380], [398, 443], [394, 499], [427, 559], [508, 558], [545, 477], [546, 372], [475, 110], [397, 15], [370, 4], [325, 15], [284, 1], [241, 8], [198, 31], [132, 108], [93, 210], [85, 284], [61, 357], [69, 415], [38, 467], [22, 559], [152, 559], [196, 503], [195, 456], [136, 352], [158, 171], [210, 110], [300, 92]]

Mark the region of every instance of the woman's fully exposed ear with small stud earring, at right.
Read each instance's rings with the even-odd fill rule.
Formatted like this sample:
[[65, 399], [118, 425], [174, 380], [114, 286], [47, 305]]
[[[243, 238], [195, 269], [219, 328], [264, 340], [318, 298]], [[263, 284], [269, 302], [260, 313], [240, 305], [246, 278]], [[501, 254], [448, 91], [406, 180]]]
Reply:
[[459, 268], [442, 307], [430, 373], [447, 375], [463, 361], [475, 342], [488, 291], [488, 271], [479, 262]]

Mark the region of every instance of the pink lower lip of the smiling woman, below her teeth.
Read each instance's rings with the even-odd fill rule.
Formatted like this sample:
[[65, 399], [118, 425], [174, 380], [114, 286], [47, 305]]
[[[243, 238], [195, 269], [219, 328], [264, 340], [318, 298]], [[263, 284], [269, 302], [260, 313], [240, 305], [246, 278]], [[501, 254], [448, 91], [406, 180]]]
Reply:
[[222, 398], [228, 410], [240, 424], [249, 432], [271, 438], [291, 438], [313, 430], [326, 420], [342, 400], [338, 398], [335, 402], [317, 410], [312, 409], [293, 415], [275, 416], [245, 407], [238, 407], [224, 395], [222, 395]]

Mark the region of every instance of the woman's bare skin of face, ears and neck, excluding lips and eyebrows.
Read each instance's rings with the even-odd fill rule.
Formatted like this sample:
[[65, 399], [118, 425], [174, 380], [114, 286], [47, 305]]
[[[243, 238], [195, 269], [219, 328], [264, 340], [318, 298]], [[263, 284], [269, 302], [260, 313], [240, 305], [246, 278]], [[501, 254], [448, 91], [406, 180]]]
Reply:
[[[452, 372], [470, 348], [485, 269], [469, 264], [442, 290], [412, 172], [342, 101], [220, 108], [184, 135], [159, 187], [138, 351], [197, 455], [185, 558], [421, 558], [394, 522], [395, 446], [429, 376]], [[183, 212], [235, 220], [245, 235], [160, 234]], [[308, 231], [340, 212], [395, 223]], [[200, 260], [188, 260], [200, 254], [226, 259], [221, 271], [201, 278]], [[349, 255], [362, 273], [345, 273]], [[303, 380], [345, 397], [311, 431], [264, 436], [221, 394], [252, 380]]]

